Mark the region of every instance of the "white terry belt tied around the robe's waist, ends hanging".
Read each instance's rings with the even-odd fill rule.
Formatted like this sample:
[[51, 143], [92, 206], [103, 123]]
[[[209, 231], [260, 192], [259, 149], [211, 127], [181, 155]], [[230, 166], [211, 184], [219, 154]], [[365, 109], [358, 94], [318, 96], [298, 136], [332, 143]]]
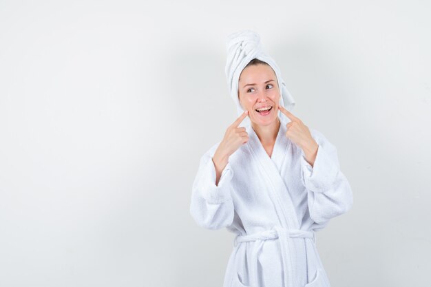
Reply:
[[274, 229], [268, 231], [262, 231], [260, 233], [253, 233], [251, 235], [237, 235], [233, 242], [233, 246], [238, 246], [243, 242], [251, 242], [262, 240], [262, 242], [256, 242], [251, 253], [251, 259], [254, 264], [251, 266], [250, 270], [250, 286], [251, 287], [260, 287], [261, 282], [259, 281], [259, 274], [257, 273], [257, 257], [259, 256], [260, 251], [262, 250], [262, 246], [264, 240], [275, 240], [279, 239], [281, 251], [282, 251], [282, 263], [283, 263], [283, 271], [284, 271], [284, 287], [294, 287], [294, 272], [293, 267], [295, 265], [292, 262], [292, 256], [290, 254], [290, 249], [288, 248], [288, 237], [291, 238], [312, 238], [313, 242], [316, 242], [316, 237], [314, 231], [303, 231], [300, 229], [286, 229], [280, 226], [275, 226]]

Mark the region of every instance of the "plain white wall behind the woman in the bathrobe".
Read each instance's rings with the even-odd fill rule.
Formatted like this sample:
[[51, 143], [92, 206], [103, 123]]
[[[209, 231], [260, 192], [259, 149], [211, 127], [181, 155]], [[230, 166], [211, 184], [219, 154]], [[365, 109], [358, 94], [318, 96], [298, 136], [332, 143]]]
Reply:
[[[60, 3], [62, 2], [62, 3]], [[251, 29], [353, 209], [317, 233], [333, 287], [428, 286], [428, 1], [0, 1], [0, 286], [222, 286], [233, 235], [189, 215], [236, 118]]]

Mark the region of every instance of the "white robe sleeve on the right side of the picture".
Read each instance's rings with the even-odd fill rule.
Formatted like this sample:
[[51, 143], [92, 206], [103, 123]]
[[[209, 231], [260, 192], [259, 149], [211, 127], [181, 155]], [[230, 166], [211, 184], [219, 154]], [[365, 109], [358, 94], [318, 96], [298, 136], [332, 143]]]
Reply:
[[311, 129], [319, 145], [313, 167], [302, 151], [302, 180], [308, 191], [311, 219], [321, 226], [328, 220], [351, 209], [353, 193], [346, 176], [339, 170], [337, 149], [319, 131]]

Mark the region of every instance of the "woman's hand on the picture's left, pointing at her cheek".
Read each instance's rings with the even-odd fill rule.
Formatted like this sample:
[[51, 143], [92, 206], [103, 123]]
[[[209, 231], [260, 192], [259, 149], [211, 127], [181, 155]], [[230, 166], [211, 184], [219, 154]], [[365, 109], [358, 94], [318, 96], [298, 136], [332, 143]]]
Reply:
[[249, 111], [244, 111], [244, 113], [242, 113], [241, 116], [227, 128], [226, 133], [224, 133], [223, 140], [215, 150], [213, 156], [215, 171], [217, 173], [215, 184], [218, 184], [218, 180], [220, 179], [224, 167], [227, 165], [229, 156], [249, 141], [249, 134], [245, 131], [245, 127], [238, 127], [248, 114]]

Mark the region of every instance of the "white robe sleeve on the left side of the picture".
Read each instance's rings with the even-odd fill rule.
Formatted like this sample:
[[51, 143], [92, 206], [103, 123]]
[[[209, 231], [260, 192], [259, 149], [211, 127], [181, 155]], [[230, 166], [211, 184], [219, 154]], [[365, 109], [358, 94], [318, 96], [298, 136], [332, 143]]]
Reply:
[[213, 149], [200, 159], [198, 173], [193, 181], [190, 213], [199, 226], [220, 229], [233, 222], [233, 202], [231, 198], [231, 178], [233, 171], [228, 162], [215, 185]]

